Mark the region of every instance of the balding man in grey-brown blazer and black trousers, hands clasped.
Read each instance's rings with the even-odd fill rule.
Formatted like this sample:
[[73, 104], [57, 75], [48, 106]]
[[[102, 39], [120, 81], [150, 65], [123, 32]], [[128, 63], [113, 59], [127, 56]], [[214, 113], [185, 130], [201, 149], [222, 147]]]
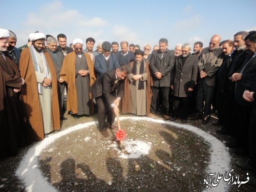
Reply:
[[211, 104], [214, 98], [216, 72], [222, 64], [222, 48], [219, 47], [221, 37], [214, 35], [211, 37], [209, 47], [202, 50], [198, 62], [200, 78], [197, 84], [197, 112], [193, 120], [201, 119], [202, 123], [210, 121]]

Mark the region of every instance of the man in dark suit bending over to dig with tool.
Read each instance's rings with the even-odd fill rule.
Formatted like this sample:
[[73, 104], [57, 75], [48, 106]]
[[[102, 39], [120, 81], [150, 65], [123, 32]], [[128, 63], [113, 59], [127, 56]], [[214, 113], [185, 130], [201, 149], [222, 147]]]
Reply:
[[[127, 65], [120, 65], [101, 76], [92, 84], [90, 91], [98, 106], [99, 131], [104, 137], [108, 137], [108, 127], [113, 129], [115, 115], [119, 113], [118, 105], [123, 96], [124, 78], [131, 73]], [[106, 119], [106, 114], [108, 118]]]

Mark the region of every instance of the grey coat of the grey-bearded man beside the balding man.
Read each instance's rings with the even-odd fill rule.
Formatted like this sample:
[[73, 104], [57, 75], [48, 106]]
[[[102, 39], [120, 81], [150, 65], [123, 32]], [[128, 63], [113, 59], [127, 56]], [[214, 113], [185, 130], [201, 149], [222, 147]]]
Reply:
[[173, 94], [176, 97], [190, 97], [192, 92], [188, 88], [195, 88], [198, 73], [198, 57], [192, 54], [188, 55], [184, 65], [182, 65], [182, 56], [175, 59], [173, 69], [174, 86]]

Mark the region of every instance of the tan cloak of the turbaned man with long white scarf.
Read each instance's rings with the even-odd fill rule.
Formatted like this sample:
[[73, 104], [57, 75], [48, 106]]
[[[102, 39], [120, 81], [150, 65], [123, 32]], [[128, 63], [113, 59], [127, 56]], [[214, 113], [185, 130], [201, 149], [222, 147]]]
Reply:
[[[59, 117], [59, 104], [58, 104], [58, 93], [57, 93], [57, 77], [54, 69], [53, 62], [49, 53], [45, 52], [45, 58], [48, 63], [49, 71], [52, 78], [52, 105], [51, 105], [51, 120], [52, 120], [52, 131], [60, 130], [60, 117]], [[22, 94], [25, 108], [29, 116], [29, 122], [32, 126], [34, 139], [44, 139], [44, 123], [42, 117], [42, 111], [40, 106], [37, 79], [35, 69], [33, 66], [32, 56], [29, 48], [22, 51], [19, 60], [20, 75], [25, 80], [25, 84], [22, 87], [20, 93]]]

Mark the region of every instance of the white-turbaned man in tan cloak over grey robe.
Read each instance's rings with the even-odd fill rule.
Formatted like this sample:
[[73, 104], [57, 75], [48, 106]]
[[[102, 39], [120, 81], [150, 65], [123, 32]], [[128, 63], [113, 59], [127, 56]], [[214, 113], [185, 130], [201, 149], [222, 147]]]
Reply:
[[82, 40], [74, 39], [73, 45], [75, 51], [63, 60], [59, 82], [63, 80], [68, 84], [67, 110], [77, 119], [94, 113], [89, 88], [96, 77], [90, 55], [82, 51]]

